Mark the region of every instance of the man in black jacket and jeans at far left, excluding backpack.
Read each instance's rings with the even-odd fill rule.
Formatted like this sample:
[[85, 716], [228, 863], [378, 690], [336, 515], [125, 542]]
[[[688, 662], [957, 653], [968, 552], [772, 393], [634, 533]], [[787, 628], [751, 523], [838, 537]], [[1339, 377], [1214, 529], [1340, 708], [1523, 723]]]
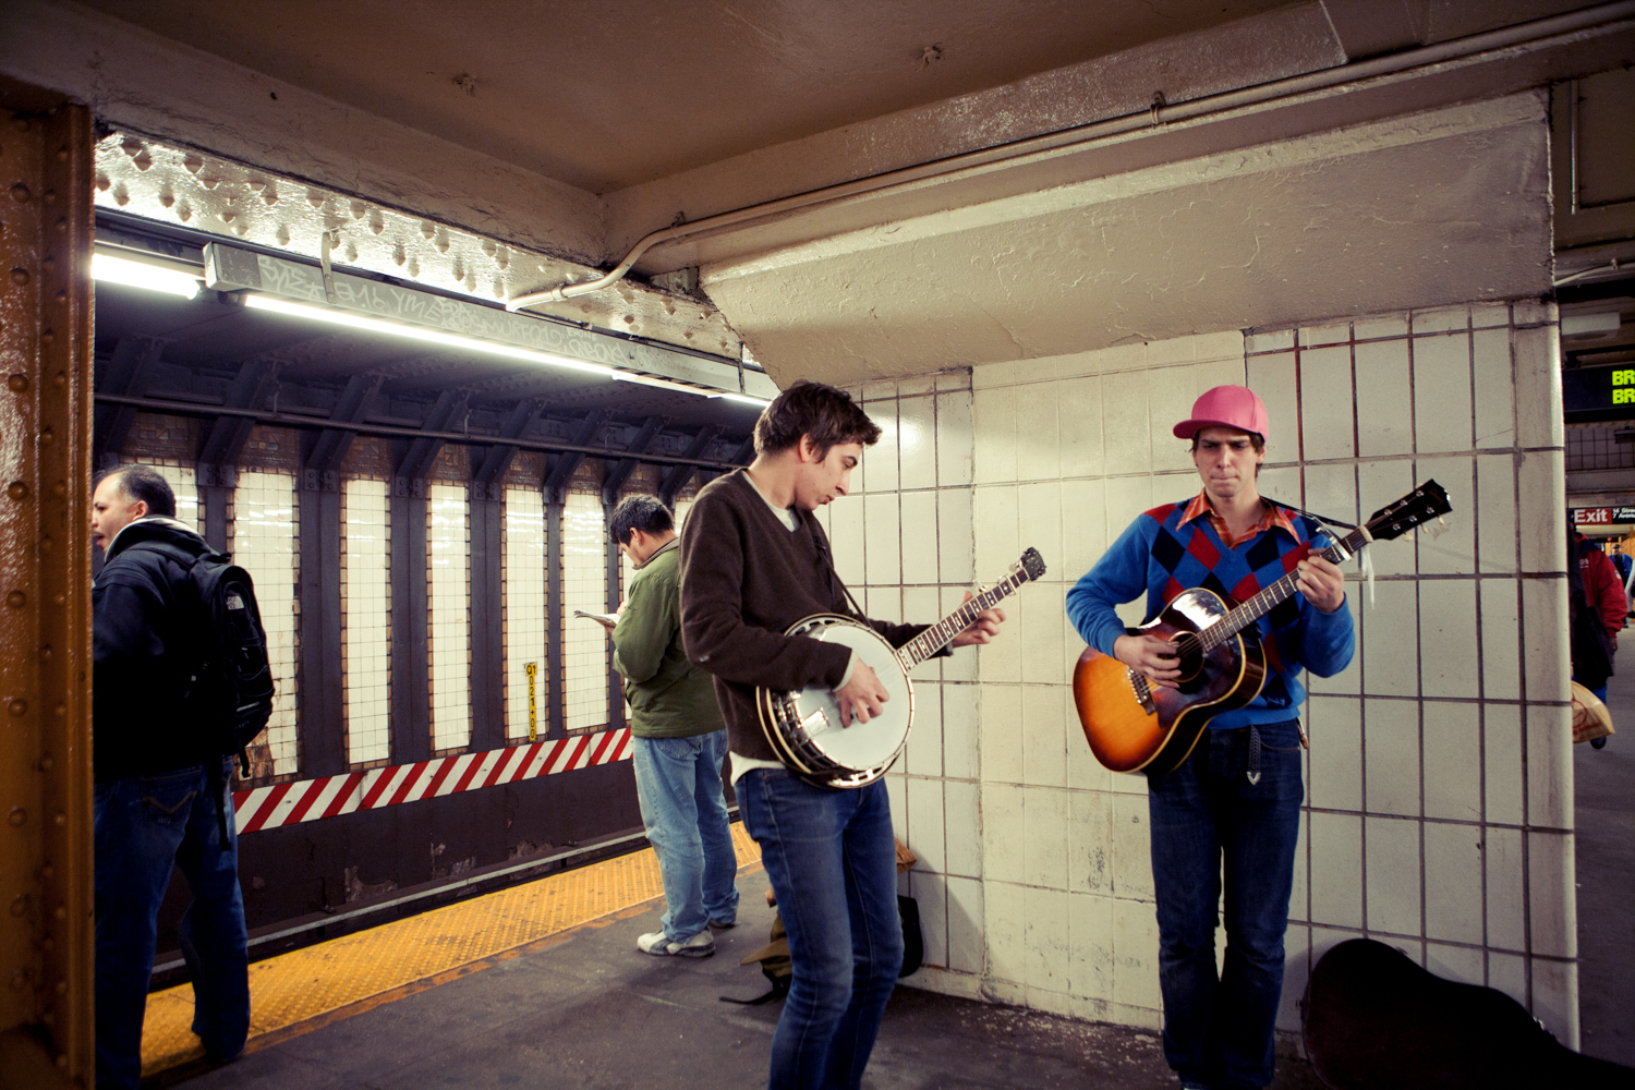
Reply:
[[180, 927], [193, 1031], [206, 1056], [227, 1061], [250, 1026], [231, 758], [181, 706], [199, 662], [198, 606], [186, 572], [154, 547], [196, 557], [209, 546], [175, 513], [175, 494], [149, 466], [110, 471], [92, 498], [92, 539], [105, 556], [92, 587], [98, 1087], [141, 1080], [159, 904], [173, 866], [193, 891]]

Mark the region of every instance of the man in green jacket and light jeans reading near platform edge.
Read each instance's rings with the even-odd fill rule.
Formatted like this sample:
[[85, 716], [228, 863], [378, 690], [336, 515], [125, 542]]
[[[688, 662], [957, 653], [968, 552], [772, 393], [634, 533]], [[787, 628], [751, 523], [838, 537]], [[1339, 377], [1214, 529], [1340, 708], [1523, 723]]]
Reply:
[[625, 675], [636, 794], [665, 902], [659, 930], [636, 948], [708, 958], [710, 927], [737, 920], [737, 855], [721, 793], [726, 722], [714, 681], [682, 649], [680, 541], [669, 508], [626, 497], [608, 529], [636, 565], [613, 629], [613, 667]]

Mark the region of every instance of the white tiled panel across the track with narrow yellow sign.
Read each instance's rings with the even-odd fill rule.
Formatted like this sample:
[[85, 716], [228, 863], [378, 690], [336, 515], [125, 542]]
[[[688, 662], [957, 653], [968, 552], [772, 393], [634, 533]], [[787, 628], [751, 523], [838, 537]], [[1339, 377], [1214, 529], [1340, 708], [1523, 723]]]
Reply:
[[546, 660], [544, 495], [505, 489], [505, 737], [528, 737], [528, 663], [535, 665], [535, 732], [549, 724]]

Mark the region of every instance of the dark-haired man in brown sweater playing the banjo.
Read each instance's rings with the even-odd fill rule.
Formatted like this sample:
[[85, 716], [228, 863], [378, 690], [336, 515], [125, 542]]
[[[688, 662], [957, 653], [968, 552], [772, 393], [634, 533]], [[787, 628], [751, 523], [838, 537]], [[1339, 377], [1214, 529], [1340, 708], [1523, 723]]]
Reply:
[[[714, 675], [744, 825], [790, 936], [773, 1090], [858, 1087], [903, 964], [886, 784], [813, 786], [777, 760], [755, 706], [757, 686], [826, 686], [850, 730], [886, 709], [886, 686], [857, 652], [785, 634], [816, 613], [853, 613], [813, 511], [847, 494], [878, 438], [845, 392], [796, 382], [755, 422], [755, 461], [698, 494], [682, 538], [682, 639]], [[983, 611], [953, 646], [986, 644], [1002, 621]], [[893, 647], [925, 628], [867, 623]]]

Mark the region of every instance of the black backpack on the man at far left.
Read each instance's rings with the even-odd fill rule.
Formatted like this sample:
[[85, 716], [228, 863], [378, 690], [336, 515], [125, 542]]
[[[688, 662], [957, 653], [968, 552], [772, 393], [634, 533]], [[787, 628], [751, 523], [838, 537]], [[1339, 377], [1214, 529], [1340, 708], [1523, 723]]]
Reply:
[[199, 724], [199, 735], [219, 745], [219, 753], [237, 755], [239, 768], [250, 775], [249, 745], [273, 714], [273, 670], [267, 662], [267, 629], [255, 605], [250, 574], [226, 552], [199, 556], [164, 541], [142, 541], [132, 549], [152, 549], [175, 561], [186, 572], [178, 593], [191, 596], [198, 665], [181, 695], [186, 716]]

